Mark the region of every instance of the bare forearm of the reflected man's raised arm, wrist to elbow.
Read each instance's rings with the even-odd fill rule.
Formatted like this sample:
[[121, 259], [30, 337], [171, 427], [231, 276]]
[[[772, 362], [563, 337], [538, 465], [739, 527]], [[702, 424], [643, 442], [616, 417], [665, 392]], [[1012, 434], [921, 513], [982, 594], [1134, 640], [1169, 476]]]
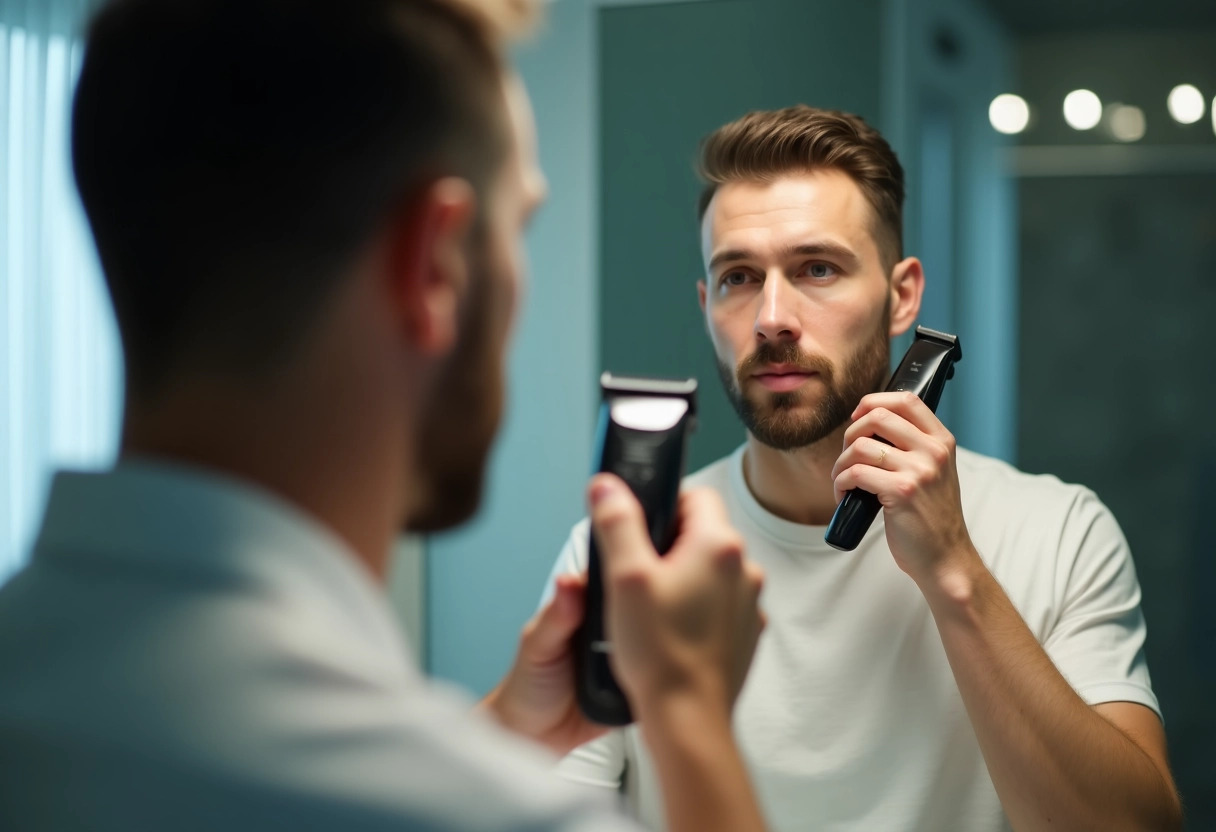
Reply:
[[1167, 775], [1076, 695], [978, 557], [922, 590], [1014, 828], [1181, 827]]

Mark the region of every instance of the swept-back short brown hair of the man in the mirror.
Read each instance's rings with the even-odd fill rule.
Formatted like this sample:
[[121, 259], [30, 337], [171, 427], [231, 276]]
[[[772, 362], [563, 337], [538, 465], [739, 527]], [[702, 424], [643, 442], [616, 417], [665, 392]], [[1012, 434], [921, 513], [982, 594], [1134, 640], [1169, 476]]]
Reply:
[[874, 240], [888, 270], [903, 257], [903, 168], [882, 134], [860, 117], [798, 105], [750, 112], [709, 134], [698, 174], [704, 220], [719, 186], [835, 169], [852, 178], [874, 209]]

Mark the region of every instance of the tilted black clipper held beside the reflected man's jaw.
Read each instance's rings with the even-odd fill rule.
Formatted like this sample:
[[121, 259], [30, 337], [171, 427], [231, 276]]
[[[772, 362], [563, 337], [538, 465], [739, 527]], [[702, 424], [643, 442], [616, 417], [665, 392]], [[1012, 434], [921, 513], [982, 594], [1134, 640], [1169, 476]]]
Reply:
[[[958, 336], [918, 326], [916, 341], [886, 383], [886, 392], [912, 390], [929, 405], [929, 410], [936, 411], [946, 382], [955, 377], [955, 364], [962, 359], [963, 348], [958, 343]], [[874, 438], [886, 442], [882, 437]], [[829, 546], [852, 551], [866, 536], [878, 510], [877, 496], [860, 488], [852, 489], [837, 506], [823, 539]]]

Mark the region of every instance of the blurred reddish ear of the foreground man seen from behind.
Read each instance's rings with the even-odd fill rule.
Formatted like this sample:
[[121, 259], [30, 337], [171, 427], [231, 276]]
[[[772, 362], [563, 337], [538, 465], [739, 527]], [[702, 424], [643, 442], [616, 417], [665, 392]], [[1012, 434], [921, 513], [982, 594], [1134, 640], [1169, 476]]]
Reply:
[[417, 350], [446, 354], [460, 336], [461, 300], [469, 291], [468, 232], [477, 195], [463, 179], [427, 185], [392, 225], [390, 303], [404, 337]]

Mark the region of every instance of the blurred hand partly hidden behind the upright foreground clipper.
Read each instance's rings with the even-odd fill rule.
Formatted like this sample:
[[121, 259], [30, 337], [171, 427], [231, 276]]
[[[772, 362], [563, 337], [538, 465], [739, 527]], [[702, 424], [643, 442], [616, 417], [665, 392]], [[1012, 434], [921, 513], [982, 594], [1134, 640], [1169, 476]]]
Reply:
[[553, 597], [524, 625], [516, 663], [480, 709], [503, 727], [565, 754], [604, 733], [574, 693], [570, 640], [582, 622], [586, 575], [559, 575]]

